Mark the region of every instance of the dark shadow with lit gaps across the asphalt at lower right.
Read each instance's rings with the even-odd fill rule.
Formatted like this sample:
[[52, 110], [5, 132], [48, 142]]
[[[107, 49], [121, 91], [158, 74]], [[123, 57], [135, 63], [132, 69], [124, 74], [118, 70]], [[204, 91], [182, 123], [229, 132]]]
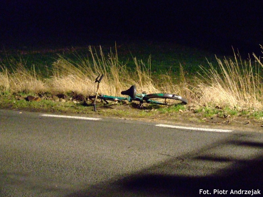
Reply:
[[[229, 150], [224, 151], [223, 150]], [[68, 197], [199, 196], [199, 190], [261, 190], [263, 143], [227, 139], [202, 150], [169, 157], [164, 162], [124, 178], [87, 186]], [[202, 195], [202, 194], [201, 194]], [[216, 193], [215, 193], [216, 195]]]

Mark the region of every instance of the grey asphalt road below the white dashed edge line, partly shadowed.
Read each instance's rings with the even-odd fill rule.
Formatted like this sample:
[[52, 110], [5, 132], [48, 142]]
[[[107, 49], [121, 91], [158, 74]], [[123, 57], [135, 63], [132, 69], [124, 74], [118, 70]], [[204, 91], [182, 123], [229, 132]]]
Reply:
[[0, 110], [1, 197], [263, 193], [262, 133], [40, 115]]

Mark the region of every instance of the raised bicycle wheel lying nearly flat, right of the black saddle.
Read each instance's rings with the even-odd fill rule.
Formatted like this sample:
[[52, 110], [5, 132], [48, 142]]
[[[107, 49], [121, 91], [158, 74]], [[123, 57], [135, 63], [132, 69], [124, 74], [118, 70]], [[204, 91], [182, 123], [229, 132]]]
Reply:
[[186, 105], [188, 103], [182, 96], [167, 93], [148, 94], [143, 97], [143, 100], [157, 105]]

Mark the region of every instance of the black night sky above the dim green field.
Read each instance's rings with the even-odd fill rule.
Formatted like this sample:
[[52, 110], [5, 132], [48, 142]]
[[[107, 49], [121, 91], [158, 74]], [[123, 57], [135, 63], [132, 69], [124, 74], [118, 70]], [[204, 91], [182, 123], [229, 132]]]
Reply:
[[262, 0], [1, 1], [0, 41], [18, 47], [149, 40], [259, 53], [262, 8]]

